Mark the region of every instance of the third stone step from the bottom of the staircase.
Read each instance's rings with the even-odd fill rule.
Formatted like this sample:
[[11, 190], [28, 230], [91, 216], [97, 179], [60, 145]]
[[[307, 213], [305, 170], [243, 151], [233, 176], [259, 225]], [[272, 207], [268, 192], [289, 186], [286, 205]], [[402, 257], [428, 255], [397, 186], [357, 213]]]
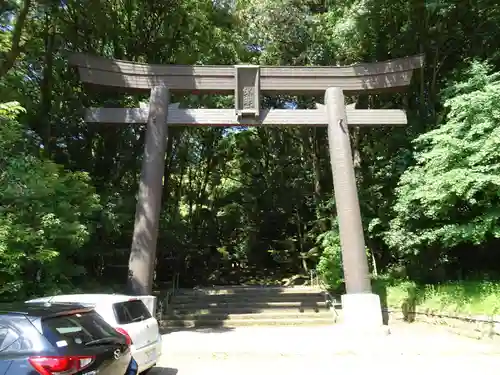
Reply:
[[287, 313], [308, 313], [308, 312], [322, 312], [329, 311], [325, 303], [318, 306], [267, 306], [258, 307], [255, 305], [242, 305], [242, 306], [195, 306], [195, 307], [185, 307], [185, 306], [171, 306], [170, 311], [173, 314], [257, 314], [257, 313], [276, 313], [276, 314], [287, 314]]

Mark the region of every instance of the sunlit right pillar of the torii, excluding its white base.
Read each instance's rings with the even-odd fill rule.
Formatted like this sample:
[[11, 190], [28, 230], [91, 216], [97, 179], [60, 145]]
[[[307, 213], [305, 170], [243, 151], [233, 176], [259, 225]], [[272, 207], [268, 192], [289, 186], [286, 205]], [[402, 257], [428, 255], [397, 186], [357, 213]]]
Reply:
[[347, 294], [371, 293], [365, 239], [342, 89], [326, 90], [328, 146]]

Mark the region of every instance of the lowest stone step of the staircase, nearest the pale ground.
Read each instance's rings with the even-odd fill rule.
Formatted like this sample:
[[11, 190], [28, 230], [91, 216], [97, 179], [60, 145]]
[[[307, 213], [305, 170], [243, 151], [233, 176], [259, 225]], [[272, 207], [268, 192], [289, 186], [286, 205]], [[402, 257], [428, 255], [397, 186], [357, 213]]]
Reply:
[[162, 320], [162, 328], [250, 327], [250, 326], [327, 326], [333, 317], [309, 319], [231, 319], [231, 320]]

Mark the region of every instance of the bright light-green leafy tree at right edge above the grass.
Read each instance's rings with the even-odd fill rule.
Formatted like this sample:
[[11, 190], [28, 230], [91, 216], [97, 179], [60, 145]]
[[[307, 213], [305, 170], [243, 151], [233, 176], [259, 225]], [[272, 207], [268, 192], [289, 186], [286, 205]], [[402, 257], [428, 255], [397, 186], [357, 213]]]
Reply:
[[489, 70], [474, 62], [444, 91], [446, 119], [415, 139], [416, 163], [399, 182], [387, 242], [418, 261], [426, 257], [426, 268], [459, 266], [453, 251], [437, 254], [436, 248], [472, 248], [500, 238], [500, 75]]

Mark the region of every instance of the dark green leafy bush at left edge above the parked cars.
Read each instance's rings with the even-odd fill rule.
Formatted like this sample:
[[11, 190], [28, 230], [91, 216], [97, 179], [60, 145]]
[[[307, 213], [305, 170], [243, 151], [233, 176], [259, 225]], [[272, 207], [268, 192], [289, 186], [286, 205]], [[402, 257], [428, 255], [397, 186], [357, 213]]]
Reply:
[[15, 102], [0, 106], [1, 293], [16, 296], [85, 273], [78, 260], [100, 208], [87, 173], [64, 171], [29, 152], [15, 121], [21, 111]]

